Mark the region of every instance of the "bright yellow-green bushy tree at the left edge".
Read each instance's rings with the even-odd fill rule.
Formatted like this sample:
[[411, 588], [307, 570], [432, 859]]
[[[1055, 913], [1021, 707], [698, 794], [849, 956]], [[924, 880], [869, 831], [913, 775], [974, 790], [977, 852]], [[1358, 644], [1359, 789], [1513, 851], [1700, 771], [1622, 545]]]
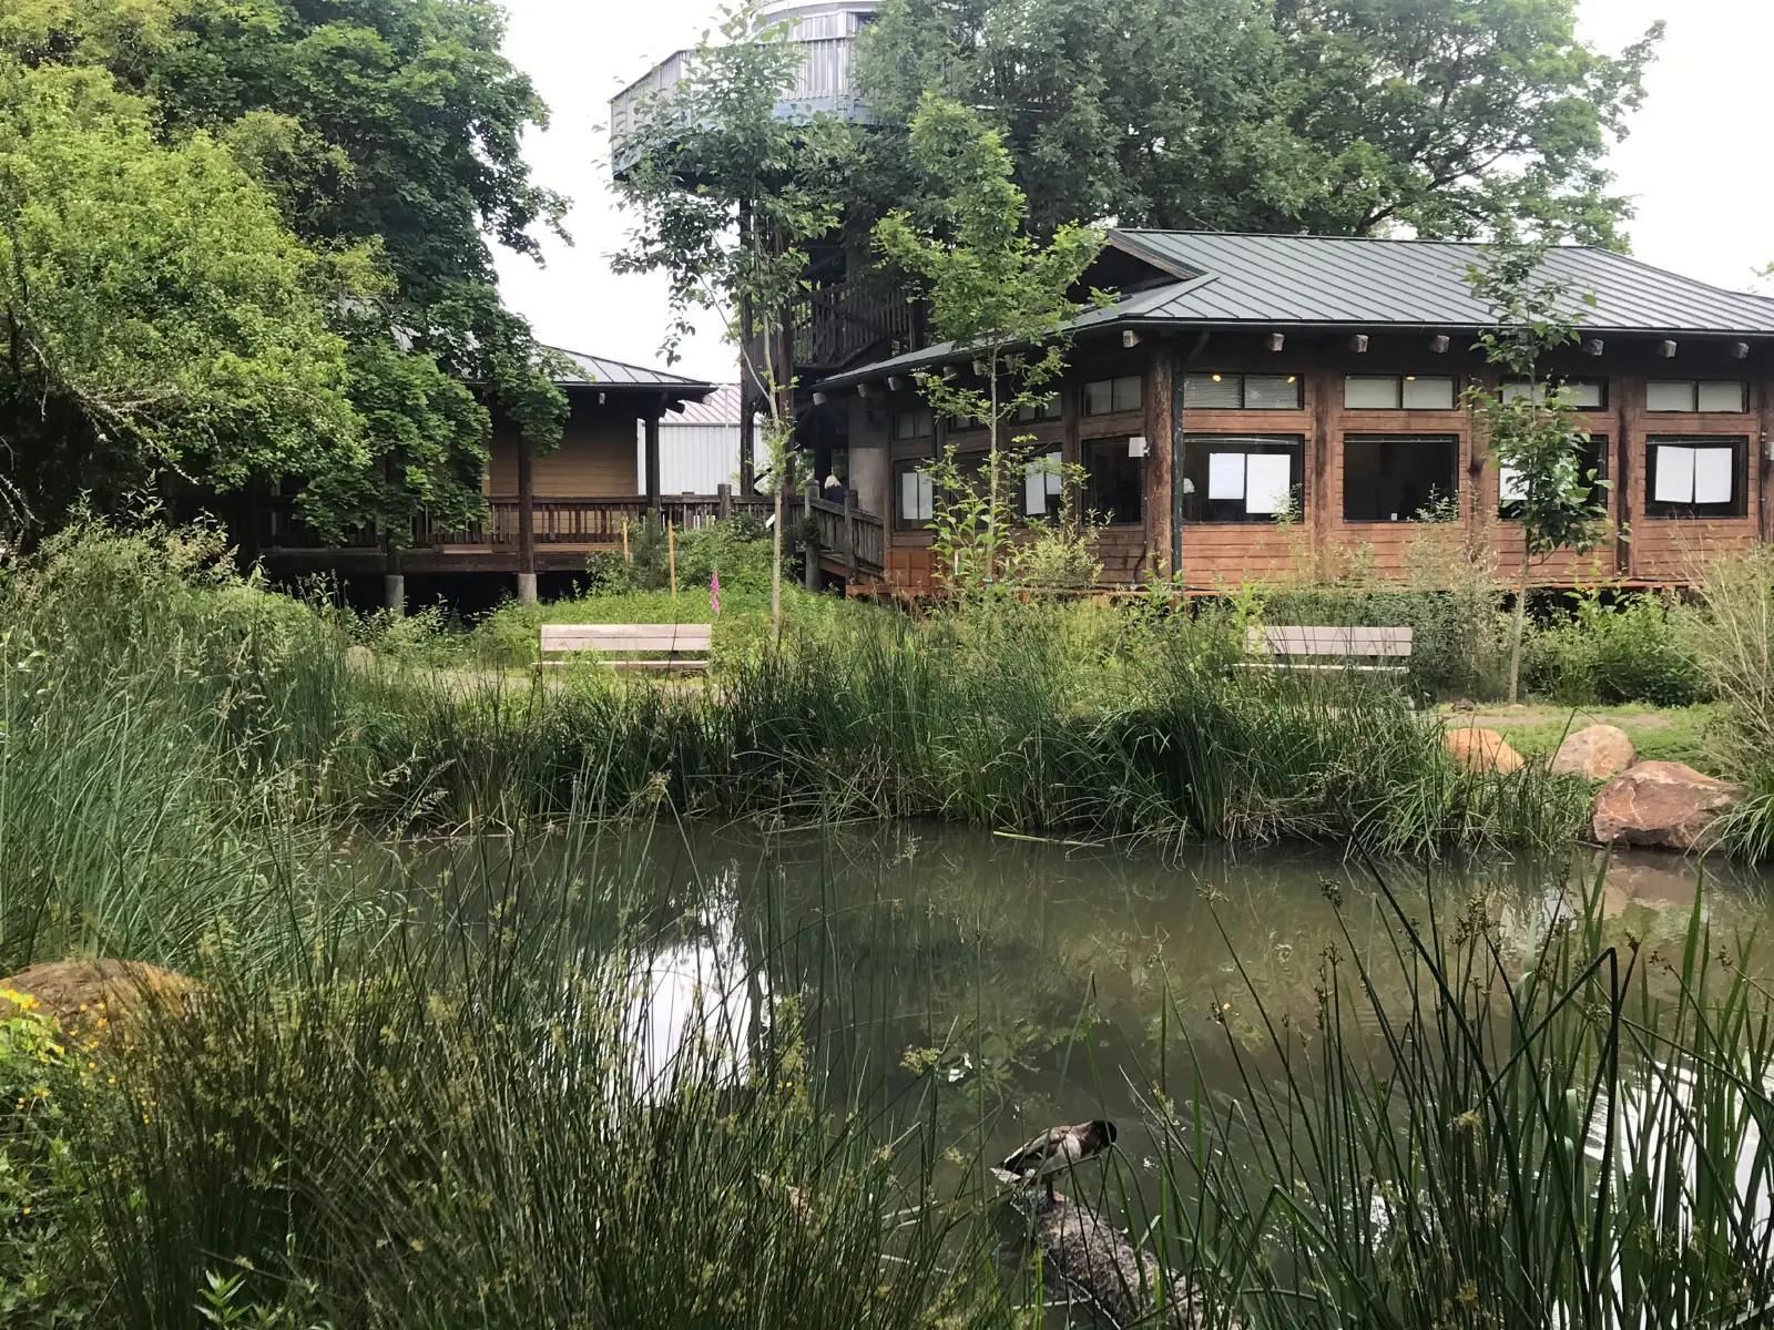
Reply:
[[101, 69], [0, 55], [0, 445], [39, 523], [160, 473], [215, 491], [364, 463], [328, 262], [204, 133]]

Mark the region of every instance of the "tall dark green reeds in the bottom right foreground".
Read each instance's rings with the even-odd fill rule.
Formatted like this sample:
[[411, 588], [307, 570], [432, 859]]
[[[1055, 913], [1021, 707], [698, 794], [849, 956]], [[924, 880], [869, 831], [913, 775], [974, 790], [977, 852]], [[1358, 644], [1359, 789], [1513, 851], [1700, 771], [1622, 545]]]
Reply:
[[1676, 952], [1605, 936], [1600, 880], [1531, 920], [1378, 890], [1378, 947], [1345, 927], [1315, 1020], [1226, 993], [1263, 1032], [1226, 1041], [1235, 1092], [1185, 1048], [1196, 1084], [1155, 1110], [1174, 1259], [1272, 1326], [1774, 1312], [1774, 1027], [1746, 945], [1699, 897]]

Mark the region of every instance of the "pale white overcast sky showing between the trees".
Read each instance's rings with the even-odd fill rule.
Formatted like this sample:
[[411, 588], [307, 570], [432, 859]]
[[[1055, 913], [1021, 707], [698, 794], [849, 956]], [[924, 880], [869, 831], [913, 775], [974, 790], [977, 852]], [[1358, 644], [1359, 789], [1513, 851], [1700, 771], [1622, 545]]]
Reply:
[[[616, 277], [623, 215], [608, 193], [608, 99], [656, 60], [690, 46], [718, 0], [504, 0], [507, 55], [536, 80], [553, 128], [525, 144], [538, 179], [573, 199], [571, 248], [550, 239], [548, 262], [500, 254], [506, 300], [545, 342], [663, 364], [665, 298], [658, 280]], [[1717, 286], [1747, 289], [1774, 262], [1774, 172], [1753, 151], [1767, 115], [1769, 0], [1582, 0], [1590, 41], [1620, 50], [1655, 20], [1669, 23], [1650, 98], [1613, 156], [1636, 197], [1632, 248], [1641, 259]], [[708, 330], [683, 348], [679, 372], [736, 378], [733, 351]]]

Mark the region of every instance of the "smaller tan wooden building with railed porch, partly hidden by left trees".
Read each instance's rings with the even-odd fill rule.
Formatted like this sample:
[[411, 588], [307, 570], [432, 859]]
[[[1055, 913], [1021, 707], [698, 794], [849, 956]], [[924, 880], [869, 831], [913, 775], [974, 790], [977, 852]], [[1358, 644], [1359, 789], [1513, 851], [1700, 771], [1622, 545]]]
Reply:
[[[261, 520], [257, 552], [266, 567], [275, 576], [380, 573], [390, 605], [404, 601], [408, 575], [498, 575], [516, 578], [520, 598], [532, 598], [539, 573], [582, 571], [587, 553], [621, 548], [624, 525], [633, 528], [649, 509], [687, 527], [745, 505], [731, 488], [662, 493], [662, 436], [669, 434], [662, 422], [710, 397], [717, 385], [603, 356], [562, 355], [577, 372], [557, 381], [569, 411], [561, 445], [538, 452], [509, 422], [495, 420], [479, 521], [451, 528], [420, 516], [401, 541], [364, 530], [339, 546], [307, 530], [293, 498], [284, 498]], [[763, 504], [752, 500], [752, 507]]]

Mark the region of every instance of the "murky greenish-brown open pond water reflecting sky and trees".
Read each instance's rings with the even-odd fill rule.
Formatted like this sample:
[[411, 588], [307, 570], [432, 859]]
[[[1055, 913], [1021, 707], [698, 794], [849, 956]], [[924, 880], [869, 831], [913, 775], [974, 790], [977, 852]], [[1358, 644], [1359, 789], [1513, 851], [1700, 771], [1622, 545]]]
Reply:
[[[1208, 1091], [1231, 1092], [1229, 1039], [1256, 1050], [1265, 1014], [1315, 1011], [1327, 949], [1389, 949], [1375, 869], [1322, 848], [1158, 853], [871, 825], [655, 828], [614, 849], [660, 938], [640, 1018], [649, 1069], [699, 1013], [743, 1046], [793, 997], [834, 1096], [883, 1117], [937, 1112], [967, 1156], [1057, 1123], [1137, 1121], [1144, 1096], [1176, 1092], [1185, 1037]], [[1577, 851], [1378, 869], [1414, 917], [1456, 915], [1483, 890], [1522, 954], [1568, 887], [1598, 880], [1621, 938], [1675, 943], [1703, 872], [1715, 940], [1769, 922], [1774, 878], [1730, 864]], [[1377, 965], [1382, 998], [1389, 975]]]

